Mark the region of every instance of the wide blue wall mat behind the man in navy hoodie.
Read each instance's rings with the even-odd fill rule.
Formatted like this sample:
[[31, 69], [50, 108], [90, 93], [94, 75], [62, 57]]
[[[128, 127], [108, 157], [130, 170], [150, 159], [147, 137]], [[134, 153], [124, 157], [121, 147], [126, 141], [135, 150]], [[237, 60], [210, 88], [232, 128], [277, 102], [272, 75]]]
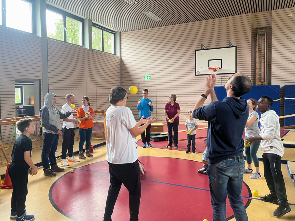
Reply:
[[[226, 97], [226, 91], [223, 87], [214, 87], [214, 90], [218, 100], [223, 100], [223, 98]], [[252, 86], [250, 92], [242, 97], [246, 100], [253, 98], [258, 101], [262, 95], [269, 96], [273, 98], [273, 100], [280, 99], [280, 85]], [[277, 115], [280, 116], [280, 101], [274, 101], [270, 109], [276, 111]], [[260, 119], [260, 111], [257, 112]], [[258, 123], [258, 126], [260, 127], [260, 122]]]

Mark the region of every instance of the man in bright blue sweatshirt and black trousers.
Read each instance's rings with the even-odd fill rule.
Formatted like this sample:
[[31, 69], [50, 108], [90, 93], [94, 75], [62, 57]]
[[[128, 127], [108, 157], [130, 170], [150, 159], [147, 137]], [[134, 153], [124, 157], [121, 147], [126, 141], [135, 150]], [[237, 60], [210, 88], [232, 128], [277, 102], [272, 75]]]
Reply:
[[[143, 98], [139, 99], [137, 103], [137, 110], [140, 111], [139, 119], [142, 118], [142, 116], [144, 119], [150, 117], [152, 115], [151, 112], [154, 111], [153, 103], [150, 99], [148, 99], [148, 89], [143, 89], [142, 95], [143, 95]], [[146, 133], [147, 133], [146, 138], [145, 138], [145, 131], [143, 131], [143, 133], [141, 134], [143, 148], [146, 148], [145, 142], [148, 142], [148, 147], [152, 146], [150, 144], [150, 126], [151, 124], [146, 128]]]

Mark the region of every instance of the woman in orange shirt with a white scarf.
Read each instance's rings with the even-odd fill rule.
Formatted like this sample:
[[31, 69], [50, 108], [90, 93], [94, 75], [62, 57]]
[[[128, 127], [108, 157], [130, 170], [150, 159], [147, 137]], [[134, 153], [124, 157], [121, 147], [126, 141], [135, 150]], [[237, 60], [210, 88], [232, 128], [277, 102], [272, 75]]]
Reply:
[[83, 97], [82, 98], [82, 106], [77, 110], [77, 117], [78, 120], [81, 121], [79, 124], [79, 135], [80, 135], [80, 142], [79, 142], [79, 159], [86, 159], [83, 154], [83, 146], [85, 144], [85, 155], [92, 157], [93, 155], [89, 153], [90, 147], [90, 139], [92, 134], [92, 127], [94, 126], [94, 113], [93, 109], [88, 105], [89, 98]]

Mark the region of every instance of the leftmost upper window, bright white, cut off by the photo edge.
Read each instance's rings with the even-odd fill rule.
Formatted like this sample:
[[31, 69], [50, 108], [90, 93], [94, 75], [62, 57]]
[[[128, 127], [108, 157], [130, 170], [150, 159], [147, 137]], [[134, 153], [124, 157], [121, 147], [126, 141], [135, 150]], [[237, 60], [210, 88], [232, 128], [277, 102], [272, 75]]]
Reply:
[[1, 25], [23, 32], [35, 32], [33, 0], [2, 0]]

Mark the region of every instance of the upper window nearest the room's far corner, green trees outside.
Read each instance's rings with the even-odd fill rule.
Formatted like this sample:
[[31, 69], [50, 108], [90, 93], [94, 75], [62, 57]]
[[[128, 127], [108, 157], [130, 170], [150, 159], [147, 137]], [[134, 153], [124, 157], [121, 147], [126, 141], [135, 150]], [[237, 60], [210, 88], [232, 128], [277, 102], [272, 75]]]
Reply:
[[92, 49], [115, 54], [115, 32], [92, 23]]

